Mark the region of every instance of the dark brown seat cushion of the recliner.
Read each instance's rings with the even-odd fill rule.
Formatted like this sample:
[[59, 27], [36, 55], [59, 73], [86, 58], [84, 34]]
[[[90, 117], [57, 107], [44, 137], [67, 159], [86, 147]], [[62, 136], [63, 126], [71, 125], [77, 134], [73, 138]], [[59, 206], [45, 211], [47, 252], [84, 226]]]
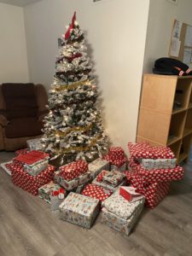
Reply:
[[36, 118], [11, 119], [9, 125], [5, 127], [5, 136], [31, 137], [42, 134], [43, 122]]

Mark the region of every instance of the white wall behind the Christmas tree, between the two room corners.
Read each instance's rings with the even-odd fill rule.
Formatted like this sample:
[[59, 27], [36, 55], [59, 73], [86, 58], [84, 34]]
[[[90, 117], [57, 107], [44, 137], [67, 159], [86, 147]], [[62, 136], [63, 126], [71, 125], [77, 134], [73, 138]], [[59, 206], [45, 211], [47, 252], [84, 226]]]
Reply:
[[55, 73], [57, 38], [77, 11], [102, 90], [106, 131], [124, 148], [136, 138], [148, 6], [149, 0], [45, 0], [24, 10], [30, 79], [47, 88]]

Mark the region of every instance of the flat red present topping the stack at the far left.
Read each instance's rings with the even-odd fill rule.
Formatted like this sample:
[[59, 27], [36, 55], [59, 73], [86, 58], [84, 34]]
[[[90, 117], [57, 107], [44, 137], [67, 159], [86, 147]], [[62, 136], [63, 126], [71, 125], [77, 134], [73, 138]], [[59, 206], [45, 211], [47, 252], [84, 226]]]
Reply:
[[40, 160], [48, 160], [49, 154], [45, 154], [44, 152], [32, 150], [27, 154], [21, 154], [14, 158], [15, 162], [20, 162], [23, 165], [32, 165]]

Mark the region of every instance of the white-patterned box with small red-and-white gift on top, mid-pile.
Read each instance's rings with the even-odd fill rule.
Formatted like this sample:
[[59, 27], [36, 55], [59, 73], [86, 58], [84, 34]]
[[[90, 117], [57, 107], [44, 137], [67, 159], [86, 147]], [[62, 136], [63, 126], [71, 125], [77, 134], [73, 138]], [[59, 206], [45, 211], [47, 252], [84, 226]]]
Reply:
[[126, 183], [125, 174], [119, 171], [108, 172], [103, 170], [93, 180], [93, 184], [103, 187], [104, 189], [110, 189], [114, 191], [118, 186], [122, 186]]

